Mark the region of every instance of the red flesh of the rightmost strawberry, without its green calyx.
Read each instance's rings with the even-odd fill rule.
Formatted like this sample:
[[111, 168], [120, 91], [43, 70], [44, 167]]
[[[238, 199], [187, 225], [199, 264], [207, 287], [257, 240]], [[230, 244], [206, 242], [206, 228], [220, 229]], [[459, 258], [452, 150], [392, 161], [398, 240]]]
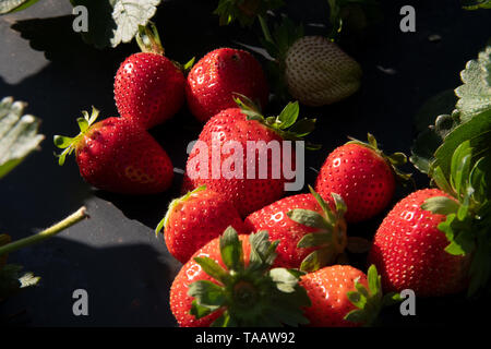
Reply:
[[[379, 227], [369, 254], [382, 276], [384, 291], [411, 289], [418, 297], [445, 296], [467, 286], [468, 258], [451, 255], [438, 225], [445, 219], [420, 208], [439, 189], [419, 190], [398, 202]], [[451, 197], [452, 198], [452, 197]]]

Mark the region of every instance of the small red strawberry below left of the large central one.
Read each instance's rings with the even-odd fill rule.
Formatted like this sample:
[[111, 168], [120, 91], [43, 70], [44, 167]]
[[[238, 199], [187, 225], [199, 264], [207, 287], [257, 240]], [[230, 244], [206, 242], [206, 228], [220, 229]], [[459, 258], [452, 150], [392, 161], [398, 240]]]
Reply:
[[227, 227], [246, 233], [242, 218], [233, 205], [218, 193], [200, 186], [173, 200], [155, 230], [165, 229], [167, 249], [185, 263], [200, 248], [219, 237]]

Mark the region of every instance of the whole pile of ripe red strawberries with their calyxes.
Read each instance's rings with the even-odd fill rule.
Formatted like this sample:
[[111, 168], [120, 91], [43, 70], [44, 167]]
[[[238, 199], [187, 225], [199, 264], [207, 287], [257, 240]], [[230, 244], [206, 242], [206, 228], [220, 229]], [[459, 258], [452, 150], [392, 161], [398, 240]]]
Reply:
[[[466, 287], [468, 258], [445, 252], [447, 240], [438, 229], [445, 216], [421, 208], [429, 197], [450, 197], [438, 189], [396, 204], [373, 241], [349, 237], [351, 224], [386, 210], [397, 182], [408, 180], [397, 169], [404, 154], [385, 155], [370, 134], [368, 143], [350, 140], [327, 154], [309, 193], [284, 197], [290, 179], [272, 176], [272, 164], [288, 160], [282, 141], [302, 140], [314, 120], [298, 120], [298, 103], [264, 117], [268, 84], [244, 50], [216, 49], [188, 72], [164, 56], [155, 32], [139, 38], [143, 52], [130, 56], [115, 79], [120, 117], [96, 122], [97, 110], [84, 112], [81, 133], [56, 136], [55, 144], [64, 149], [60, 164], [75, 151], [81, 176], [92, 185], [151, 194], [171, 185], [173, 167], [147, 130], [184, 101], [204, 123], [199, 141], [207, 147], [196, 143], [190, 153], [183, 196], [170, 203], [156, 229], [183, 264], [170, 290], [180, 326], [369, 325], [404, 289], [431, 297]], [[230, 141], [244, 148], [251, 141], [277, 141], [282, 156], [274, 163], [263, 149], [267, 178], [248, 178], [248, 167], [258, 174], [259, 164], [237, 154], [229, 158], [244, 164], [244, 176], [213, 176], [216, 166], [233, 167], [225, 164], [229, 158], [217, 164], [211, 153]], [[367, 274], [349, 265], [347, 250], [368, 252]]]

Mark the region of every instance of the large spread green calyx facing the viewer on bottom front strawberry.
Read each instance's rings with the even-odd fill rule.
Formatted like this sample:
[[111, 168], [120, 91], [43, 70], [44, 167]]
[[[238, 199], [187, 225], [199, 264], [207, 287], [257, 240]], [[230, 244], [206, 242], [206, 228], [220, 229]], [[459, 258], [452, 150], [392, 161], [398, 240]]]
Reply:
[[206, 256], [194, 257], [215, 280], [197, 280], [190, 285], [193, 297], [190, 313], [196, 318], [215, 311], [221, 315], [213, 327], [278, 327], [307, 324], [302, 308], [310, 306], [304, 288], [299, 285], [302, 272], [271, 268], [278, 241], [271, 242], [267, 231], [249, 236], [251, 253], [246, 265], [242, 243], [229, 227], [219, 238], [225, 268]]

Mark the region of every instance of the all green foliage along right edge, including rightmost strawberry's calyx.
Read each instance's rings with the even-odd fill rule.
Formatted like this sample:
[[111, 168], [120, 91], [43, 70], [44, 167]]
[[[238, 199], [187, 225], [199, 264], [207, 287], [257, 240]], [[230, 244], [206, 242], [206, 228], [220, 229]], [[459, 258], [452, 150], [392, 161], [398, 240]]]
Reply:
[[460, 77], [455, 109], [418, 136], [410, 159], [455, 198], [433, 197], [422, 207], [446, 215], [439, 225], [450, 242], [446, 251], [471, 256], [468, 293], [475, 294], [491, 273], [491, 46]]

